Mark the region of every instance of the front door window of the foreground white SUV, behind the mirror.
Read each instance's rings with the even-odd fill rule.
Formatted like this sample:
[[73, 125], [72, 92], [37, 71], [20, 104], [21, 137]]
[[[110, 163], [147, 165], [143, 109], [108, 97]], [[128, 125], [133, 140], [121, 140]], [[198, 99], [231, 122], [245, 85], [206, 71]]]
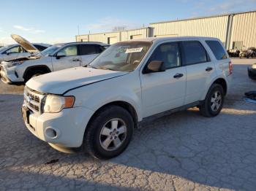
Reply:
[[170, 42], [159, 45], [151, 55], [150, 61], [163, 61], [166, 69], [181, 66], [178, 43]]

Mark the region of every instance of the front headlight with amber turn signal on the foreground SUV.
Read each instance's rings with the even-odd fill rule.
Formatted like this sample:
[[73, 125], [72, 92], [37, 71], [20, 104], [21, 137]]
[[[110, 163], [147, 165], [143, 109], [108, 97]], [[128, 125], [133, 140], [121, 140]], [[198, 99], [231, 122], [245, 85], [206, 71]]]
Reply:
[[43, 109], [45, 113], [58, 113], [64, 108], [73, 107], [74, 103], [74, 96], [47, 95]]

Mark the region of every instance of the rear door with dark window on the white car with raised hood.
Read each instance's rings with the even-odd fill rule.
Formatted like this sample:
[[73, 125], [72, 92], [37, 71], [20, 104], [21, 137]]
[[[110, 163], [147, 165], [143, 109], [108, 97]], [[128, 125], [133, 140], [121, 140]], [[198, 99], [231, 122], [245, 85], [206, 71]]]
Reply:
[[80, 46], [81, 66], [87, 66], [99, 53], [105, 50], [98, 44], [80, 44], [78, 46]]

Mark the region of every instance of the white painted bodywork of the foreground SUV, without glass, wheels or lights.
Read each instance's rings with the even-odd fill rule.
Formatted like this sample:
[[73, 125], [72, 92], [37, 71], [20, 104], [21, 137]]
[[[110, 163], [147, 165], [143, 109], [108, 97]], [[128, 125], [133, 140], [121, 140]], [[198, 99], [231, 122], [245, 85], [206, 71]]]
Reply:
[[[146, 65], [158, 44], [191, 39], [203, 44], [211, 62], [143, 74], [143, 66]], [[77, 67], [30, 79], [26, 86], [31, 90], [46, 94], [73, 95], [75, 104], [72, 109], [63, 109], [57, 114], [32, 113], [29, 116], [31, 124], [26, 124], [29, 130], [32, 129], [31, 125], [33, 127], [35, 125], [35, 130], [31, 132], [39, 139], [50, 144], [60, 144], [63, 147], [80, 147], [91, 116], [106, 104], [117, 101], [126, 102], [135, 110], [140, 122], [151, 115], [192, 104], [195, 101], [203, 101], [209, 87], [216, 79], [225, 79], [227, 90], [229, 89], [232, 79], [228, 68], [230, 59], [217, 61], [204, 42], [218, 39], [174, 37], [144, 40], [151, 41], [153, 44], [134, 71], [121, 72]], [[213, 70], [208, 72], [207, 67], [213, 67]], [[174, 79], [173, 75], [176, 73], [182, 73], [184, 76]], [[54, 128], [59, 136], [55, 138], [45, 136], [44, 130], [47, 128]]]

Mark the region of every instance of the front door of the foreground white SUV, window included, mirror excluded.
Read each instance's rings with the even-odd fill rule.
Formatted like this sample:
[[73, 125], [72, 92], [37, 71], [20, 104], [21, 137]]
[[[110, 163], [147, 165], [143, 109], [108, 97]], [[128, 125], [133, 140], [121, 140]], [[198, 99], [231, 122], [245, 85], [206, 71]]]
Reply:
[[163, 61], [166, 71], [141, 74], [143, 117], [182, 106], [186, 90], [178, 42], [159, 44], [147, 63], [150, 61]]

